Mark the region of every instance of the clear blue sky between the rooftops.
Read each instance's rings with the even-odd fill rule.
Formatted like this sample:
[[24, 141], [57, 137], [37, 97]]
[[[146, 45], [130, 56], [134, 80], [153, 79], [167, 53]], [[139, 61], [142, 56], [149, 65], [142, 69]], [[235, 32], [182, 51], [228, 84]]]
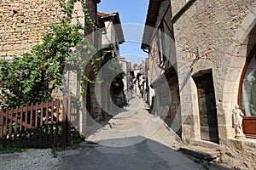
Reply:
[[[143, 25], [146, 21], [149, 0], [102, 0], [98, 4], [98, 10], [102, 12], [119, 12], [120, 20], [123, 25], [126, 42], [120, 45], [120, 55], [125, 57], [126, 60], [131, 61], [132, 64], [140, 64], [141, 61], [148, 57], [148, 54], [143, 52], [141, 41], [143, 36]], [[139, 24], [134, 25], [133, 30], [136, 31], [137, 42], [127, 41], [131, 37], [131, 31], [128, 32], [129, 26], [126, 24]]]

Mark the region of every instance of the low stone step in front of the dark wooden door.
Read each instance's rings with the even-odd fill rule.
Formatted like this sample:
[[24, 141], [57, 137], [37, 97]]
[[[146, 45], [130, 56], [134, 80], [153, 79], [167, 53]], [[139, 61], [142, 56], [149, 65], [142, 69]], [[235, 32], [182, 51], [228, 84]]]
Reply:
[[220, 156], [220, 152], [217, 150], [208, 149], [202, 146], [183, 146], [179, 149], [184, 154], [194, 156], [199, 159], [212, 161]]

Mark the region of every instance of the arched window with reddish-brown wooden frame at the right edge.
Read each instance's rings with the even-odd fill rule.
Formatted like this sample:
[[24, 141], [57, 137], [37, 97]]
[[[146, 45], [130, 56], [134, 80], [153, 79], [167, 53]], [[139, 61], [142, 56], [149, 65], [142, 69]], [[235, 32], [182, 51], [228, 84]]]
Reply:
[[244, 65], [238, 100], [245, 116], [256, 116], [256, 46]]

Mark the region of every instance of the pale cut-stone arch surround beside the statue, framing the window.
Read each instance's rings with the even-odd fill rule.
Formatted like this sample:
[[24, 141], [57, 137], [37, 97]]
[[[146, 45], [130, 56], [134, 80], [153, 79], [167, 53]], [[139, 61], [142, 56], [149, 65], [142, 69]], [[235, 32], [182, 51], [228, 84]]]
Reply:
[[222, 110], [225, 117], [225, 129], [228, 139], [235, 137], [232, 129], [232, 109], [239, 104], [241, 74], [247, 57], [256, 44], [256, 7], [248, 9], [247, 15], [237, 28], [234, 41], [224, 56], [225, 77], [223, 82]]

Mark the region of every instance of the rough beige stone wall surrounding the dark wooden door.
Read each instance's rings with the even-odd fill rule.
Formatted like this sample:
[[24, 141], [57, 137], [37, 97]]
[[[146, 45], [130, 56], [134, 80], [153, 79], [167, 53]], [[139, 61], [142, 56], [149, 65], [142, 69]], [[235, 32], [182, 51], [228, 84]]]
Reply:
[[[172, 9], [175, 10], [179, 1], [171, 2]], [[247, 54], [241, 54], [236, 49], [236, 65], [230, 65], [236, 48], [232, 44], [237, 42], [237, 31], [253, 8], [253, 0], [197, 0], [185, 13], [177, 17], [173, 26], [181, 112], [183, 119], [188, 119], [186, 122], [194, 122], [183, 124], [183, 139], [193, 139], [193, 136], [196, 139], [199, 134], [196, 87], [192, 76], [207, 69], [212, 69], [219, 138], [228, 139], [234, 136], [231, 111], [237, 103], [241, 71]], [[242, 42], [236, 45], [239, 48], [243, 46]], [[232, 71], [230, 67], [233, 68]], [[224, 85], [227, 85], [225, 82], [229, 83], [229, 88], [224, 89]]]

